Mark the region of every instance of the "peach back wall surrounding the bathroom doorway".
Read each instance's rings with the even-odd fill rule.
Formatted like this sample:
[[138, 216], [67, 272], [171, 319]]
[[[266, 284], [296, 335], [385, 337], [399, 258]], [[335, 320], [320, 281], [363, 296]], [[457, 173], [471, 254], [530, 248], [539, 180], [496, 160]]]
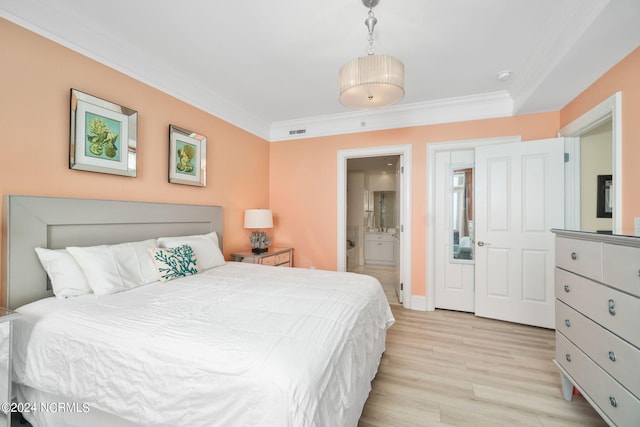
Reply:
[[270, 200], [278, 218], [274, 241], [295, 247], [298, 267], [335, 269], [338, 150], [410, 144], [412, 292], [425, 295], [427, 144], [509, 135], [522, 135], [523, 140], [553, 138], [558, 123], [556, 112], [272, 143]]

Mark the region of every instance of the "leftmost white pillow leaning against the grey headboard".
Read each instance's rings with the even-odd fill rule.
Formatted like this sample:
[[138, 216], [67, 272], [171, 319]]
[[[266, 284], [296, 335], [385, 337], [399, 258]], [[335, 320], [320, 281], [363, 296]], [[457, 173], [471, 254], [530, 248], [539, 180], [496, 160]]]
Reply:
[[71, 298], [92, 292], [80, 266], [66, 249], [35, 248], [35, 251], [56, 297]]

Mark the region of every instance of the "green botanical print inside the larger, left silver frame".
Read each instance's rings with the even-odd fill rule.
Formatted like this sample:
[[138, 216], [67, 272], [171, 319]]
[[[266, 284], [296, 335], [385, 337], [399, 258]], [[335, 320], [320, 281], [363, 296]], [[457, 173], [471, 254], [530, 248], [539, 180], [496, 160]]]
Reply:
[[108, 117], [86, 113], [85, 155], [99, 159], [120, 161], [121, 123]]

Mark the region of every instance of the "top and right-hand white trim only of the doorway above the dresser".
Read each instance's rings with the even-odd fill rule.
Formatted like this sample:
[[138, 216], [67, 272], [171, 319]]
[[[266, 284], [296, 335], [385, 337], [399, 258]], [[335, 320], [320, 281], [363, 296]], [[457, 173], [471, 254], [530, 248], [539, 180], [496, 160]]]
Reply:
[[616, 92], [558, 131], [558, 136], [579, 137], [611, 119], [612, 175], [615, 202], [612, 230], [622, 234], [622, 92]]

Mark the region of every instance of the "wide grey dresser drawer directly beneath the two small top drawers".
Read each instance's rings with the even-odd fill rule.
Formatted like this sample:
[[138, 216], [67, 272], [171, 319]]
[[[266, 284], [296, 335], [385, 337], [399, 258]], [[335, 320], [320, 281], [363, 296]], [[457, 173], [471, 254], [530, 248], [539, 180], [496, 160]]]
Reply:
[[640, 299], [556, 268], [555, 296], [640, 347]]

